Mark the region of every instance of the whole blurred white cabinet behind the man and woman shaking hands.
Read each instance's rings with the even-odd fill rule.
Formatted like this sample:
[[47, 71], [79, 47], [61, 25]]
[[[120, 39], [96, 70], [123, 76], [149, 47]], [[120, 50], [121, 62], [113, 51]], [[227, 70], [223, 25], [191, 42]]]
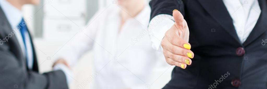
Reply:
[[42, 0], [35, 9], [35, 37], [69, 40], [85, 27], [98, 6], [98, 0]]

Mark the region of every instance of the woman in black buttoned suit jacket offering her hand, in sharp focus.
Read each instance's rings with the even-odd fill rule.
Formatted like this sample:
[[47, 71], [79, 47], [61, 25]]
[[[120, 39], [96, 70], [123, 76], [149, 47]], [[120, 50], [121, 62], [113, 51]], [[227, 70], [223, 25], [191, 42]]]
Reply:
[[152, 0], [150, 6], [150, 23], [165, 18], [151, 31], [153, 48], [176, 65], [163, 89], [266, 89], [266, 0]]

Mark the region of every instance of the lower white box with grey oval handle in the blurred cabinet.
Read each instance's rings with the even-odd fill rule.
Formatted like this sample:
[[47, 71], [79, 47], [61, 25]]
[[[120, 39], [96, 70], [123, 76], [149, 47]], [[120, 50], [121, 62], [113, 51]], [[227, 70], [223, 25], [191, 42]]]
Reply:
[[70, 21], [68, 19], [44, 19], [43, 38], [46, 40], [69, 40], [79, 32], [80, 27], [76, 24], [82, 26], [84, 25], [84, 20], [77, 19]]

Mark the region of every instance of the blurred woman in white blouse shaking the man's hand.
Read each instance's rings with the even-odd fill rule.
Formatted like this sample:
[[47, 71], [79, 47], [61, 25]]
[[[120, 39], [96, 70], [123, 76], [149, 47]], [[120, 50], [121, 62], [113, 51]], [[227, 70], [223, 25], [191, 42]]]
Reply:
[[164, 56], [151, 48], [147, 29], [151, 10], [146, 0], [116, 3], [100, 9], [84, 32], [77, 33], [57, 53], [56, 59], [72, 66], [92, 50], [97, 73], [94, 89], [143, 89], [151, 84], [155, 65], [161, 61], [167, 65]]

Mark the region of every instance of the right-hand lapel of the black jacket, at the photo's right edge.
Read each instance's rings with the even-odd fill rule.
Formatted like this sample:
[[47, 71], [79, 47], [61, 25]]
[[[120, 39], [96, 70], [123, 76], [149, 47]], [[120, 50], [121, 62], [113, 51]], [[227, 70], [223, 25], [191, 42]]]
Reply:
[[261, 14], [252, 32], [249, 34], [247, 40], [244, 42], [244, 46], [249, 45], [267, 30], [267, 3], [266, 0], [258, 1], [261, 8]]

